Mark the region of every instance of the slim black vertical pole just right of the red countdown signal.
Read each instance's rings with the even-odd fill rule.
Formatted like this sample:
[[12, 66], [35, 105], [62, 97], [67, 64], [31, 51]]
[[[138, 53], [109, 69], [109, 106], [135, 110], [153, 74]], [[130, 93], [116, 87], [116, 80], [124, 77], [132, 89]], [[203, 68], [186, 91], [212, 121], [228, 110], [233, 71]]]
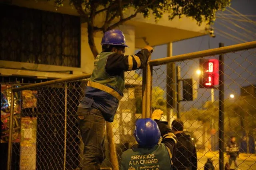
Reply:
[[[224, 47], [219, 43], [219, 47]], [[220, 55], [219, 66], [219, 169], [224, 169], [224, 55]]]

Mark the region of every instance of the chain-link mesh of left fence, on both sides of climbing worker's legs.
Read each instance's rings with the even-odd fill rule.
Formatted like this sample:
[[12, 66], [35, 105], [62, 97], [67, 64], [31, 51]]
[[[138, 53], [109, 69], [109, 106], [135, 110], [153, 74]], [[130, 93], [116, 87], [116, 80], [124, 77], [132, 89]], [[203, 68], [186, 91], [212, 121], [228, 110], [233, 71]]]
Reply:
[[[124, 97], [120, 100], [114, 122], [107, 123], [112, 134], [106, 131], [106, 159], [102, 164], [103, 168], [113, 167], [110, 161], [110, 150], [113, 147], [120, 162], [122, 152], [135, 143], [133, 131], [142, 111], [142, 70], [125, 72], [125, 77]], [[11, 169], [80, 168], [83, 143], [80, 142], [76, 111], [84, 96], [87, 81], [84, 79], [56, 83], [15, 92], [15, 100], [18, 102], [14, 107], [20, 110], [14, 109], [14, 120], [17, 115], [19, 120], [14, 121]], [[8, 127], [6, 128], [8, 141]], [[17, 135], [20, 137], [16, 137]], [[112, 136], [112, 139], [107, 136]]]

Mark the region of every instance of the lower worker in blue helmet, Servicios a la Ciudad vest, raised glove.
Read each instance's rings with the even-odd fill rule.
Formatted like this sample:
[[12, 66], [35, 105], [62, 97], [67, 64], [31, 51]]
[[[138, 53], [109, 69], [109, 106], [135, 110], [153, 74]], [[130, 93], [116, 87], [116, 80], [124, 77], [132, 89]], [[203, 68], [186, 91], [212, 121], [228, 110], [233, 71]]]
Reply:
[[[152, 113], [152, 119], [138, 119], [134, 136], [138, 145], [122, 154], [121, 170], [172, 170], [176, 156], [176, 137], [168, 123], [160, 121], [163, 111]], [[162, 136], [162, 142], [159, 142]]]

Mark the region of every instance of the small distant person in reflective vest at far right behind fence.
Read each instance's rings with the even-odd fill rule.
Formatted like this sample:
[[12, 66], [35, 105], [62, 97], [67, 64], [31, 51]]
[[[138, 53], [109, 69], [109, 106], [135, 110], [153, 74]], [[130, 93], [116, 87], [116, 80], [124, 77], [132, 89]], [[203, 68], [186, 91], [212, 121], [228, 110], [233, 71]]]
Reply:
[[238, 168], [236, 158], [239, 155], [239, 147], [236, 143], [236, 138], [234, 136], [230, 137], [230, 141], [226, 145], [226, 152], [228, 156], [229, 166], [231, 166], [232, 162], [234, 161], [236, 168]]

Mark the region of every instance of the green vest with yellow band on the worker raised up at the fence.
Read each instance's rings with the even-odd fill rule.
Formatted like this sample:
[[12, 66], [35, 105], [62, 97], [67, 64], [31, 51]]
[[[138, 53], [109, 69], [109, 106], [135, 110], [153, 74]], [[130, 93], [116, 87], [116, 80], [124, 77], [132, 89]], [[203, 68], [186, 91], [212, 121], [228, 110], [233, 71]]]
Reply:
[[[92, 76], [88, 81], [87, 86], [100, 89], [104, 92], [107, 92], [121, 100], [122, 92], [124, 90], [124, 71], [120, 71], [120, 73], [116, 76], [110, 76], [106, 72], [106, 62], [109, 55], [114, 54], [112, 52], [104, 52], [100, 53], [95, 61], [94, 61], [94, 69], [92, 71]], [[112, 88], [110, 88], [109, 86]], [[114, 89], [113, 89], [114, 88]], [[119, 93], [117, 92], [119, 91]], [[121, 93], [121, 94], [120, 94]]]

